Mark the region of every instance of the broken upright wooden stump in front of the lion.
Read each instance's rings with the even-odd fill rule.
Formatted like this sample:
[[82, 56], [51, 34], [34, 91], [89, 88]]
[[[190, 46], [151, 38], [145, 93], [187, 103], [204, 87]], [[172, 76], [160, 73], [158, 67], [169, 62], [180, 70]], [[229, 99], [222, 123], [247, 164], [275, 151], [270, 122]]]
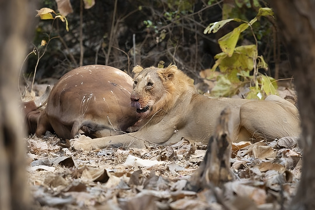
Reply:
[[225, 182], [232, 181], [233, 175], [229, 165], [231, 157], [230, 114], [229, 108], [221, 112], [215, 134], [209, 139], [203, 162], [192, 176], [190, 186], [187, 185], [191, 190], [200, 190], [212, 186], [212, 184], [221, 186]]

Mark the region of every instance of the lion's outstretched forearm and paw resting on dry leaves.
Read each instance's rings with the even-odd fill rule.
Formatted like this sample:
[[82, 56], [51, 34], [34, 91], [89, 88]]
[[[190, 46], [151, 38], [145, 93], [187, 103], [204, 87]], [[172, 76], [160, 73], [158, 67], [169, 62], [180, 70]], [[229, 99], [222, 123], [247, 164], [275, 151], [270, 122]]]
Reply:
[[137, 132], [97, 139], [90, 139], [82, 135], [79, 138], [73, 139], [71, 141], [71, 146], [75, 150], [94, 150], [121, 146], [145, 148], [144, 140], [135, 137], [136, 134]]

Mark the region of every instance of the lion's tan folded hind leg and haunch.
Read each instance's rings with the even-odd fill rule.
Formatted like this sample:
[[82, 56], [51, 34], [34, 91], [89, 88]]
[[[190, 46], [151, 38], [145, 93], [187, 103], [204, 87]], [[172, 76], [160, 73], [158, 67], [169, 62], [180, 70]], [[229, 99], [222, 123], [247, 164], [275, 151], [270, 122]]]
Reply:
[[[269, 97], [269, 96], [268, 96]], [[290, 102], [272, 95], [264, 101], [249, 101], [241, 106], [240, 125], [251, 139], [273, 141], [300, 134], [298, 111]]]

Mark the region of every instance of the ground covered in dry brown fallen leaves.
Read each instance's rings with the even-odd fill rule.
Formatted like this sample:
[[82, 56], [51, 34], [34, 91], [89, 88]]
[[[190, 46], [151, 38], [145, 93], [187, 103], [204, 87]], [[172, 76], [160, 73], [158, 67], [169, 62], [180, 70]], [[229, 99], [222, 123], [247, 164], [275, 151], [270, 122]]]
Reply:
[[206, 153], [200, 143], [75, 151], [49, 132], [27, 141], [32, 209], [281, 209], [301, 176], [296, 137], [234, 143], [235, 181], [197, 192], [187, 183]]

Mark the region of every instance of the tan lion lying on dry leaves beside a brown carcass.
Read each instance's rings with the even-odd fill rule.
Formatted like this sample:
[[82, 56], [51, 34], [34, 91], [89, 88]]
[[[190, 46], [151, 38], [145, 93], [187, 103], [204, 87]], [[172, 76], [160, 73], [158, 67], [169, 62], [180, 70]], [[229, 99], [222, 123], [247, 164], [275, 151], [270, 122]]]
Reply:
[[273, 141], [301, 132], [299, 111], [277, 95], [265, 100], [210, 99], [198, 94], [193, 80], [175, 65], [163, 69], [137, 65], [133, 72], [131, 105], [141, 121], [139, 130], [97, 139], [73, 139], [74, 149], [173, 145], [183, 137], [206, 144], [226, 107], [231, 109], [229, 133], [234, 142]]

